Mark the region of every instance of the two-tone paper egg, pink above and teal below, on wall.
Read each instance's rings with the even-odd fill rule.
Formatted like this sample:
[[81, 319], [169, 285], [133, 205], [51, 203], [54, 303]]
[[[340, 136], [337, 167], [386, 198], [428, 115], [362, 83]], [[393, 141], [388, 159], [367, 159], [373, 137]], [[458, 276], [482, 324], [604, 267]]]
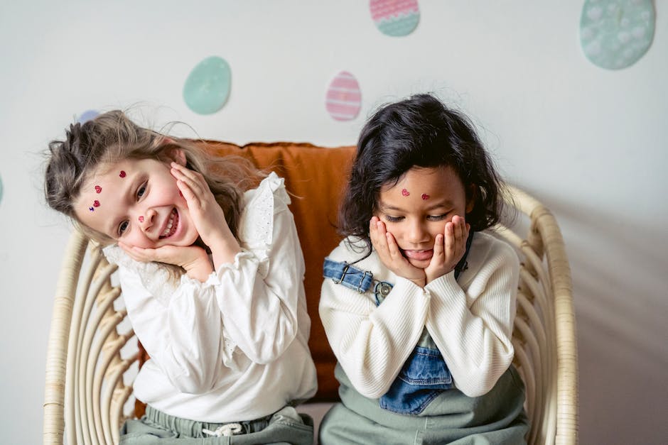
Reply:
[[370, 0], [369, 9], [376, 28], [385, 35], [409, 35], [420, 21], [417, 0]]

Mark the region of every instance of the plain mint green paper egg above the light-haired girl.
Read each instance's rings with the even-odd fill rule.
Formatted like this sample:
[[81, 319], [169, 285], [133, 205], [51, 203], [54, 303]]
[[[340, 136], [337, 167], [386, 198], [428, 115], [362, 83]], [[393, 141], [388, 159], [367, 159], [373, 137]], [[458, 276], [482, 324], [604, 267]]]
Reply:
[[221, 57], [212, 56], [199, 62], [185, 79], [183, 100], [198, 114], [220, 110], [230, 94], [230, 65]]

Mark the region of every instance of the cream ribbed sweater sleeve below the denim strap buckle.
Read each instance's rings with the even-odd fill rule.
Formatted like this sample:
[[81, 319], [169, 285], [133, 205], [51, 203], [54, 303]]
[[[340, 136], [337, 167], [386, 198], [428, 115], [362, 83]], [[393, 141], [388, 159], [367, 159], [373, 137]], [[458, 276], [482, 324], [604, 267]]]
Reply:
[[404, 278], [378, 307], [368, 292], [324, 280], [320, 319], [336, 358], [362, 395], [377, 398], [387, 392], [419, 341], [429, 304], [429, 294]]

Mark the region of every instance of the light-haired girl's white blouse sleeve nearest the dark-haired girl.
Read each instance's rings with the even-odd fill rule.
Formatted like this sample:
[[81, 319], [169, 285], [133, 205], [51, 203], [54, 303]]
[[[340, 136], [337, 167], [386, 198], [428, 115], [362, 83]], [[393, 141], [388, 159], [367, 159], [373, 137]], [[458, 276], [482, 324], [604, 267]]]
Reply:
[[298, 332], [304, 261], [289, 197], [272, 173], [244, 209], [244, 250], [220, 265], [208, 283], [215, 288], [225, 328], [254, 363], [279, 358]]

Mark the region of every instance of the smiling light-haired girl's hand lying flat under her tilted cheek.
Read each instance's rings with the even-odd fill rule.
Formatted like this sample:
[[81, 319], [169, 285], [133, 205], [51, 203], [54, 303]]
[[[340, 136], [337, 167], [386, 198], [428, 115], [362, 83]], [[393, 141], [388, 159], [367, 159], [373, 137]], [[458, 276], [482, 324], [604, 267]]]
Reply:
[[131, 258], [143, 263], [167, 263], [185, 269], [190, 278], [206, 281], [213, 268], [207, 253], [198, 246], [162, 246], [158, 248], [141, 248], [129, 246], [122, 241], [118, 243]]

